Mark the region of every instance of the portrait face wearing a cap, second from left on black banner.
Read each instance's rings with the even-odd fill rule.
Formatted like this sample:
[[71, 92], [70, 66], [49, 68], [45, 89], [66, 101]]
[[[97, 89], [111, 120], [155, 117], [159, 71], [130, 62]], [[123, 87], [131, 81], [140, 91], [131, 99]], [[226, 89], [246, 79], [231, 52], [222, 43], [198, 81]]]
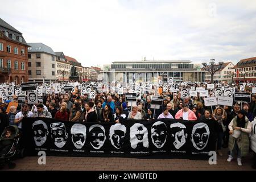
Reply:
[[51, 136], [54, 140], [54, 144], [58, 148], [64, 147], [68, 139], [68, 133], [66, 131], [64, 123], [51, 123]]

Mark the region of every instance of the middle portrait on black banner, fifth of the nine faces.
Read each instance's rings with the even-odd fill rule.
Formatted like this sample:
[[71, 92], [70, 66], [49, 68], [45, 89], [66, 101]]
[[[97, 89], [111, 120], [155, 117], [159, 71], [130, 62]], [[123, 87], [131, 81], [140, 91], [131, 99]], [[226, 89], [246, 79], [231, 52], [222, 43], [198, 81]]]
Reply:
[[109, 129], [109, 140], [111, 144], [120, 149], [125, 142], [126, 127], [120, 123], [112, 125]]

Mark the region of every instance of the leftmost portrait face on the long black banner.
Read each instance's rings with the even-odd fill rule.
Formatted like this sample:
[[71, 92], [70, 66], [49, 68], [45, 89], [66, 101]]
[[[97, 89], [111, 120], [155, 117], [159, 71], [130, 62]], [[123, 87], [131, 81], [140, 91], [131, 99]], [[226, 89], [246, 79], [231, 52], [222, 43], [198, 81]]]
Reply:
[[49, 134], [46, 123], [42, 120], [35, 121], [32, 124], [32, 132], [36, 146], [42, 146], [46, 142], [47, 135]]

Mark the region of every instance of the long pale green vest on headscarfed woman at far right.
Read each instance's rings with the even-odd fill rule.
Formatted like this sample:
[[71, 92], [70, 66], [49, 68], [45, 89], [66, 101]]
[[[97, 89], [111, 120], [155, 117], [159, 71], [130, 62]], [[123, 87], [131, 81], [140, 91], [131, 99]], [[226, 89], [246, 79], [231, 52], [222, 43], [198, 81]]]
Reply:
[[[234, 117], [232, 119], [233, 121], [233, 130], [234, 130], [234, 127], [237, 126], [237, 117]], [[245, 117], [245, 129], [247, 129], [247, 125], [248, 125], [248, 122], [250, 122], [248, 120], [247, 117]], [[250, 146], [250, 142], [249, 142], [249, 134], [241, 131], [241, 135], [238, 139], [232, 137], [232, 135], [229, 136], [229, 151], [233, 151], [233, 148], [234, 148], [234, 144], [235, 142], [237, 142], [237, 145], [238, 145], [238, 148], [240, 148], [241, 150], [241, 156], [246, 156], [249, 152], [249, 146]]]

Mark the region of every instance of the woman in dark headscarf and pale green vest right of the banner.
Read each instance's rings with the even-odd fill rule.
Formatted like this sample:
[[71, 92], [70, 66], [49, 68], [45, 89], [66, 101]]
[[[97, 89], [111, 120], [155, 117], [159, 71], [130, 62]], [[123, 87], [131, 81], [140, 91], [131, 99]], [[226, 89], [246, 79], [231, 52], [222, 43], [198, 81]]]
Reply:
[[242, 166], [242, 157], [249, 152], [249, 134], [251, 133], [251, 122], [246, 117], [246, 111], [238, 112], [237, 117], [234, 117], [229, 123], [229, 158], [231, 162], [234, 158], [234, 152], [237, 152], [237, 164]]

